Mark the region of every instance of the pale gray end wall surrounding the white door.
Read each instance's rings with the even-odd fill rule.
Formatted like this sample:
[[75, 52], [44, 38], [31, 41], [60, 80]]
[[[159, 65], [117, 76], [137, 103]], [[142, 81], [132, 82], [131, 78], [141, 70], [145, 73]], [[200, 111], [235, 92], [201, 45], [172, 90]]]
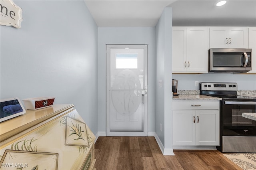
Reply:
[[155, 28], [98, 28], [98, 130], [106, 132], [106, 44], [148, 44], [148, 132], [155, 131]]

